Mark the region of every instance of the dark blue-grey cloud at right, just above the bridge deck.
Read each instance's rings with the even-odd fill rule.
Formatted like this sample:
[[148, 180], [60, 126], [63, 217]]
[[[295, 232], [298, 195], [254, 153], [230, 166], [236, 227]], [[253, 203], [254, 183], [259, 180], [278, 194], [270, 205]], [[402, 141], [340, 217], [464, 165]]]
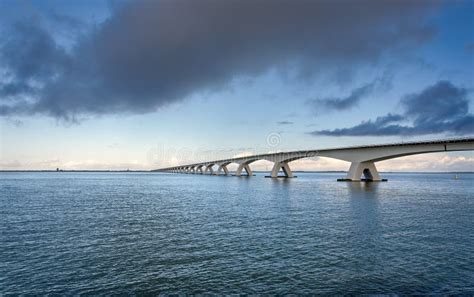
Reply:
[[[406, 95], [401, 100], [403, 115], [387, 114], [375, 121], [365, 121], [350, 128], [320, 130], [313, 135], [326, 136], [390, 136], [474, 133], [474, 115], [469, 113], [466, 89], [451, 82], [439, 81], [423, 91]], [[402, 122], [411, 121], [412, 125]]]

